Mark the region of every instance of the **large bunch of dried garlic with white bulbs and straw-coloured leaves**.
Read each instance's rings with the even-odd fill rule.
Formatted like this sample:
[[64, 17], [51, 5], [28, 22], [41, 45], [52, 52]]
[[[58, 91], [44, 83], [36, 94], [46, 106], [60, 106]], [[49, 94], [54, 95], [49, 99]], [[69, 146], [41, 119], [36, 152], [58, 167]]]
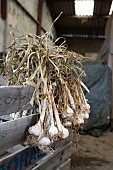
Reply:
[[89, 118], [90, 106], [81, 87], [88, 91], [81, 81], [82, 59], [65, 45], [49, 41], [48, 34], [14, 37], [4, 60], [4, 75], [9, 85], [34, 87], [30, 103], [35, 103], [40, 117], [28, 130], [32, 144], [49, 147]]

